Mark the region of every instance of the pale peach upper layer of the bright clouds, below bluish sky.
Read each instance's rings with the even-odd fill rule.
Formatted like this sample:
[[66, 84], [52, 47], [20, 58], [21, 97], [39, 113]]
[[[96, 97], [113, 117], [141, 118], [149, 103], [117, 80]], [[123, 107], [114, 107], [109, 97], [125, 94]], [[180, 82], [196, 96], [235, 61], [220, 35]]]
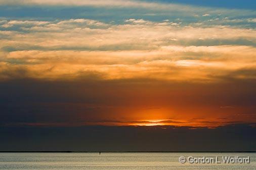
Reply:
[[[174, 22], [152, 22], [143, 19], [126, 20], [127, 24], [110, 25], [96, 20], [70, 19], [54, 22], [42, 21], [5, 21], [0, 27], [15, 27], [16, 31], [0, 31], [4, 36], [15, 41], [4, 41], [4, 44], [15, 46], [40, 46], [41, 48], [103, 48], [116, 45], [115, 48], [130, 46], [131, 48], [156, 48], [166, 46], [170, 41], [184, 43], [189, 41], [210, 41], [248, 39], [255, 43], [255, 30], [213, 27], [177, 27]], [[30, 25], [29, 25], [29, 24]], [[174, 25], [175, 24], [175, 25]], [[141, 32], [143, 29], [143, 32]], [[214, 32], [214, 34], [212, 34]], [[50, 41], [48, 34], [54, 41]], [[8, 39], [6, 39], [8, 40]], [[40, 41], [39, 41], [40, 40]], [[89, 43], [90, 42], [90, 43]], [[129, 45], [128, 45], [129, 44]], [[119, 47], [117, 47], [119, 46]]]

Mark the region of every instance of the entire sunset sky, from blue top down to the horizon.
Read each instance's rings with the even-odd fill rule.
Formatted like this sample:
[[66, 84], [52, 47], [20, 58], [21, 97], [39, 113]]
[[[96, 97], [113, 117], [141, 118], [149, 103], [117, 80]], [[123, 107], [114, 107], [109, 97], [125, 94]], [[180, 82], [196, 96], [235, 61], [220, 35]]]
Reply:
[[[20, 128], [31, 143], [49, 128], [63, 138], [85, 131], [92, 141], [94, 128], [109, 136], [149, 126], [157, 126], [152, 136], [174, 127], [198, 128], [197, 136], [217, 129], [218, 138], [233, 126], [254, 133], [255, 8], [251, 0], [0, 0], [2, 148]], [[251, 149], [255, 138], [243, 139]]]

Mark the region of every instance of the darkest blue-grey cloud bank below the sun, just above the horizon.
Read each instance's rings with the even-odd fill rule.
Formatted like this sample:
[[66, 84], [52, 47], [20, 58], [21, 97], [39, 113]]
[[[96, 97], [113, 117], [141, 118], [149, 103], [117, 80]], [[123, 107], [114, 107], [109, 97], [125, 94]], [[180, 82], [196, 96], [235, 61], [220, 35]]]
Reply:
[[1, 127], [1, 151], [255, 151], [256, 128]]

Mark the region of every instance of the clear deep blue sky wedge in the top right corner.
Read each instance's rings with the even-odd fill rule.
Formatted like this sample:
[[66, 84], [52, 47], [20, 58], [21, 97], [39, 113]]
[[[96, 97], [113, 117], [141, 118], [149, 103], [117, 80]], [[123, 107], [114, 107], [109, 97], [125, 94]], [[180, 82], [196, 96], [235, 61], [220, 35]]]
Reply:
[[204, 7], [219, 7], [229, 9], [256, 9], [255, 0], [145, 0], [147, 2], [164, 2], [164, 3], [176, 3], [187, 4]]

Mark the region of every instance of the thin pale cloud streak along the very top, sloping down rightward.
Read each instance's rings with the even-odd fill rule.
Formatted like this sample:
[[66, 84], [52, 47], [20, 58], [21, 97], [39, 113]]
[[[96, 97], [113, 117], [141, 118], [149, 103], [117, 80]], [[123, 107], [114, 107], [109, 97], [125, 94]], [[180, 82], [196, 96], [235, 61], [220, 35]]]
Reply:
[[[57, 6], [57, 7], [69, 7], [69, 8], [75, 8], [75, 7], [96, 7], [96, 8], [130, 8], [130, 9], [143, 9], [147, 12], [145, 15], [155, 15], [152, 13], [152, 11], [158, 11], [158, 12], [168, 12], [173, 13], [181, 16], [219, 16], [220, 14], [228, 14], [228, 16], [252, 16], [255, 14], [255, 12], [250, 10], [235, 10], [235, 9], [218, 9], [218, 8], [206, 8], [206, 7], [196, 7], [196, 6], [189, 6], [189, 5], [180, 5], [180, 4], [173, 4], [173, 3], [155, 3], [155, 2], [146, 2], [146, 1], [124, 1], [124, 0], [118, 0], [118, 1], [104, 1], [104, 0], [75, 0], [75, 1], [69, 1], [69, 0], [56, 0], [56, 1], [50, 1], [50, 0], [0, 0], [0, 5], [5, 6], [41, 6], [41, 7], [51, 7], [51, 6]], [[195, 14], [195, 11], [197, 14]]]

